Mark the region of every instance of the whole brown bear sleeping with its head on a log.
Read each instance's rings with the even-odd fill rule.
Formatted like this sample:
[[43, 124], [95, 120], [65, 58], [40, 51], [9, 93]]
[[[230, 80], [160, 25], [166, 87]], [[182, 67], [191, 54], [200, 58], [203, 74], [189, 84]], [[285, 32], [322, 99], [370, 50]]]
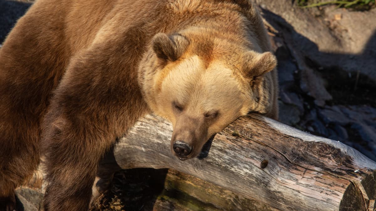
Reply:
[[0, 50], [0, 209], [45, 156], [46, 210], [87, 210], [98, 163], [148, 112], [196, 157], [241, 115], [276, 119], [276, 58], [248, 0], [37, 0]]

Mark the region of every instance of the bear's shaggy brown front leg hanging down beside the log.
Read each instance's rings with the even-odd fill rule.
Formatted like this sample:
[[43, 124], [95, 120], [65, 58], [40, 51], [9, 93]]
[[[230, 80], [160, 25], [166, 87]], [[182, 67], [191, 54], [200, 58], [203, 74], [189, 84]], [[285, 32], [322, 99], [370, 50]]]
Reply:
[[99, 44], [74, 57], [55, 91], [42, 125], [46, 210], [88, 210], [99, 161], [149, 111], [136, 70], [114, 51]]

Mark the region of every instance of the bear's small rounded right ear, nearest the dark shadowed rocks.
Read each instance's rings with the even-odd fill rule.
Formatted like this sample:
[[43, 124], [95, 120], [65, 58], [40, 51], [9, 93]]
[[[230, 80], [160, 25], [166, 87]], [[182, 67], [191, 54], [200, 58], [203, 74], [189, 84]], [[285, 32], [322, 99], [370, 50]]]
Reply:
[[270, 52], [247, 51], [240, 59], [246, 77], [254, 78], [272, 71], [277, 66], [277, 58]]

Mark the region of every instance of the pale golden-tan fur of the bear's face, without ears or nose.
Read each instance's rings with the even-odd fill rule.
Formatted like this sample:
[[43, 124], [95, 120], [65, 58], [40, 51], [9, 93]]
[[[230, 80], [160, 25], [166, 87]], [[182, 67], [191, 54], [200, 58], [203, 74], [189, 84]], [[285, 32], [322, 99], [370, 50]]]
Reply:
[[[193, 146], [189, 157], [196, 157], [214, 133], [247, 113], [248, 109], [243, 107], [246, 96], [232, 70], [218, 60], [205, 68], [205, 62], [193, 55], [171, 66], [166, 68], [166, 77], [161, 82], [156, 81], [156, 86], [161, 83], [161, 90], [156, 93], [158, 108], [155, 112], [173, 123], [171, 147], [175, 141], [182, 140]], [[217, 112], [214, 118], [205, 117]]]

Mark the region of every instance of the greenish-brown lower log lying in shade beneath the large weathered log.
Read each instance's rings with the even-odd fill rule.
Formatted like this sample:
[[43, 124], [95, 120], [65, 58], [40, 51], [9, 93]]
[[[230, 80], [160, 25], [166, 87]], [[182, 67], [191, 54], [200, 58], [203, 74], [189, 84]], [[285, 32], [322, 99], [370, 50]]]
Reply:
[[173, 169], [168, 170], [164, 190], [152, 207], [153, 210], [277, 211], [265, 202], [244, 197]]

